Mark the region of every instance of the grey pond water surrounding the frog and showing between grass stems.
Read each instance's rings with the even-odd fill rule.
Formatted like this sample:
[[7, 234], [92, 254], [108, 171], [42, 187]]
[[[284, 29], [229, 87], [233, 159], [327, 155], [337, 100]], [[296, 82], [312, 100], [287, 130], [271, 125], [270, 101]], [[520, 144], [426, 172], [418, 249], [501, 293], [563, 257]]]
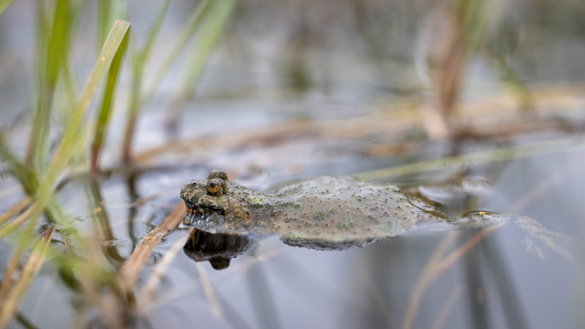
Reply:
[[[210, 237], [182, 223], [156, 245], [140, 272], [135, 327], [583, 327], [585, 40], [579, 15], [570, 9], [585, 12], [570, 1], [549, 6], [494, 2], [497, 22], [490, 21], [488, 41], [477, 46], [481, 50], [466, 50], [472, 54], [451, 114], [458, 135], [440, 138], [425, 118], [439, 106], [436, 94], [445, 91], [425, 73], [420, 56], [432, 57], [433, 29], [425, 26], [436, 19], [429, 8], [441, 5], [243, 2], [175, 129], [165, 125], [164, 109], [180, 64], [143, 109], [131, 165], [119, 159], [130, 81], [123, 68], [99, 184], [88, 183], [85, 167], [72, 167], [57, 196], [87, 239], [99, 227], [105, 237], [101, 258], [112, 268], [181, 202], [184, 184], [214, 169], [259, 191], [320, 175], [369, 173], [378, 182], [421, 191], [453, 217], [519, 214], [574, 238], [555, 250], [508, 223], [493, 231], [415, 228], [361, 248], [317, 251], [285, 245], [277, 235]], [[30, 102], [13, 86], [30, 78], [9, 67], [32, 70], [19, 56], [32, 51], [33, 42], [32, 32], [12, 30], [11, 22], [33, 25], [32, 8], [16, 1], [0, 15], [0, 26], [8, 26], [0, 28], [2, 125], [19, 155], [30, 126], [17, 113]], [[192, 5], [170, 6], [174, 20], [165, 20], [161, 35], [180, 29], [185, 8]], [[83, 17], [93, 22], [90, 9]], [[141, 40], [153, 14], [132, 2], [129, 11]], [[88, 25], [80, 27], [81, 46], [74, 47], [72, 60], [80, 81], [95, 59], [85, 40], [94, 37]], [[19, 33], [26, 36], [16, 38]], [[153, 66], [172, 38], [159, 39]], [[508, 66], [490, 57], [493, 52]], [[528, 109], [518, 88], [530, 91]], [[566, 138], [574, 138], [569, 147]], [[525, 152], [526, 145], [543, 141], [552, 146]], [[490, 153], [493, 160], [443, 163], [495, 149], [511, 151]], [[420, 170], [371, 172], [428, 160]], [[18, 182], [5, 176], [0, 208], [22, 196]], [[96, 211], [91, 200], [100, 198]], [[46, 228], [42, 220], [37, 231]], [[61, 248], [61, 237], [53, 239]], [[15, 241], [0, 240], [3, 271]], [[225, 248], [236, 256], [229, 266], [217, 257]], [[152, 284], [151, 275], [167, 261], [160, 282]], [[20, 314], [39, 328], [100, 327], [101, 315], [87, 296], [71, 290], [52, 264], [49, 259], [32, 283]]]

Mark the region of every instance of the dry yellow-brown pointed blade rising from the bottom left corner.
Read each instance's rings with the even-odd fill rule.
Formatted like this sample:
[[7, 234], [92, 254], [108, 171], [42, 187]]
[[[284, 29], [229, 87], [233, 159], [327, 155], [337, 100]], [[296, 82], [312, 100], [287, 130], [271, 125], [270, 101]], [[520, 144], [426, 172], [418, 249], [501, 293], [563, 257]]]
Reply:
[[0, 311], [0, 328], [6, 327], [6, 324], [15, 316], [20, 302], [25, 297], [26, 290], [29, 288], [30, 283], [35, 279], [37, 273], [39, 273], [40, 267], [44, 263], [44, 259], [47, 257], [47, 252], [51, 245], [51, 238], [55, 232], [55, 225], [47, 228], [46, 231], [40, 236], [39, 241], [30, 253], [29, 259], [25, 266], [20, 272], [20, 277], [13, 286], [12, 291], [6, 297], [6, 300], [2, 303], [2, 310]]

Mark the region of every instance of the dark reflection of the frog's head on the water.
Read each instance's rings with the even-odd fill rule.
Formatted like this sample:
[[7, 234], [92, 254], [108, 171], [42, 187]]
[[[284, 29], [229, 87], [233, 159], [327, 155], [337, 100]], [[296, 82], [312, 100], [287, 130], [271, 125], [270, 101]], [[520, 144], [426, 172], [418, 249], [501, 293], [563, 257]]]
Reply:
[[183, 251], [195, 262], [209, 261], [216, 270], [226, 269], [232, 258], [242, 255], [252, 239], [246, 235], [208, 233], [194, 228]]

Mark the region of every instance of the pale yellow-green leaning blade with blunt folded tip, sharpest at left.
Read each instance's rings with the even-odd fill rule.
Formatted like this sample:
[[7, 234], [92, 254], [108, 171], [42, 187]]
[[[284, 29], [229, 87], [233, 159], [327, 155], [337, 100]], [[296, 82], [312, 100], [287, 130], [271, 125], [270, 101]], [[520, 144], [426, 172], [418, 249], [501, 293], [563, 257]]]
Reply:
[[113, 57], [115, 57], [116, 53], [120, 51], [120, 45], [124, 42], [124, 39], [128, 37], [129, 29], [129, 22], [116, 20], [114, 23], [113, 28], [108, 35], [108, 39], [106, 39], [104, 48], [102, 48], [102, 52], [99, 54], [98, 60], [95, 63], [94, 70], [81, 92], [80, 100], [75, 106], [67, 131], [65, 132], [63, 139], [61, 139], [61, 143], [53, 155], [53, 159], [51, 159], [46, 176], [40, 183], [39, 198], [35, 207], [33, 207], [32, 221], [29, 222], [29, 228], [34, 227], [36, 218], [47, 203], [49, 203], [51, 194], [54, 190], [54, 182], [57, 176], [61, 173], [61, 170], [65, 167], [73, 150], [73, 146], [75, 145], [75, 140], [77, 139], [85, 111], [87, 111], [87, 108], [90, 106], [99, 83], [102, 81], [102, 78], [104, 78], [106, 71], [108, 71], [110, 64], [112, 63]]

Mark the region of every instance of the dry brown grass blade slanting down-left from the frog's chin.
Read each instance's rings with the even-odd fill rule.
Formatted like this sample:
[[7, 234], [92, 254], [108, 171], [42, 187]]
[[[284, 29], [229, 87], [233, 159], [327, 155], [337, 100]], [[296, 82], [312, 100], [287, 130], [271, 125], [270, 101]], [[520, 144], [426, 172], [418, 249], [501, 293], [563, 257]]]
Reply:
[[159, 244], [160, 239], [165, 234], [174, 229], [183, 220], [185, 213], [187, 213], [185, 204], [183, 201], [180, 201], [174, 207], [173, 211], [164, 218], [163, 222], [142, 239], [138, 248], [130, 255], [128, 261], [122, 265], [119, 272], [119, 280], [125, 292], [132, 290], [132, 287], [136, 284], [138, 273], [140, 273], [144, 264], [149, 260], [154, 247]]

